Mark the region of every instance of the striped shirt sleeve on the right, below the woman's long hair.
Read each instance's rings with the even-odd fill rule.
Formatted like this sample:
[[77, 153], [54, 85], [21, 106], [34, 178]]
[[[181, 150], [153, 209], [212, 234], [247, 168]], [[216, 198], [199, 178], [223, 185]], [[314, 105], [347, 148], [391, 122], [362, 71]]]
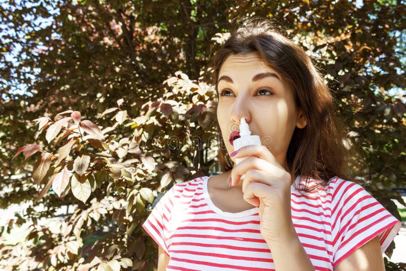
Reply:
[[333, 267], [377, 235], [384, 253], [401, 222], [357, 183], [338, 179], [332, 192]]

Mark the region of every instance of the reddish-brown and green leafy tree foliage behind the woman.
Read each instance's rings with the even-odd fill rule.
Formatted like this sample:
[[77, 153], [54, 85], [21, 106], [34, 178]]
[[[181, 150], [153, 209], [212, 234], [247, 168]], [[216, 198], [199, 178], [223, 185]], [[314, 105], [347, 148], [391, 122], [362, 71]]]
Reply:
[[[174, 182], [219, 171], [210, 59], [242, 16], [275, 20], [307, 50], [358, 153], [353, 181], [400, 220], [404, 1], [21, 0], [0, 12], [0, 208], [31, 202], [2, 231], [32, 221], [26, 242], [1, 242], [1, 268], [156, 267], [148, 212]], [[76, 209], [59, 232], [37, 225], [62, 205]]]

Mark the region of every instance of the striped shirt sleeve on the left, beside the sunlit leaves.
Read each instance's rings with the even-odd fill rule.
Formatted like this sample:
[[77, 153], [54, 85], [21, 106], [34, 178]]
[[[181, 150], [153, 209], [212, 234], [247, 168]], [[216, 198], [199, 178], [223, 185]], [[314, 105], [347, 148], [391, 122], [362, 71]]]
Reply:
[[174, 187], [161, 197], [147, 220], [143, 223], [143, 228], [167, 255], [169, 255], [169, 251], [166, 246], [166, 237], [170, 223], [170, 210], [173, 207], [173, 195]]

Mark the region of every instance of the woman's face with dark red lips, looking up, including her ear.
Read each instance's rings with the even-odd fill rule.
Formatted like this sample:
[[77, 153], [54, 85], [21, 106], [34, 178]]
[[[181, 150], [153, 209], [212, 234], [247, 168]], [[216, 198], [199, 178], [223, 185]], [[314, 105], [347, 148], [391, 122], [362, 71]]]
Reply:
[[[306, 117], [296, 108], [293, 89], [256, 53], [232, 54], [218, 76], [217, 119], [228, 154], [232, 131], [239, 131], [245, 118], [256, 134], [287, 169], [286, 153], [295, 127], [306, 126]], [[235, 158], [231, 158], [235, 163]]]

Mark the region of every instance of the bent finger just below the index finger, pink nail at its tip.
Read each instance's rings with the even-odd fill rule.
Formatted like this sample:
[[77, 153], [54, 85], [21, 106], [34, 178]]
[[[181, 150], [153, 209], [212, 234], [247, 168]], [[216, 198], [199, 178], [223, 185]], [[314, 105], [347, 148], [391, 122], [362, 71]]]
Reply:
[[274, 179], [281, 179], [286, 176], [286, 171], [284, 168], [280, 168], [275, 164], [269, 163], [268, 161], [251, 156], [241, 161], [238, 165], [235, 165], [231, 170], [231, 185], [233, 186], [238, 184], [241, 176], [246, 174], [251, 168], [266, 172]]

